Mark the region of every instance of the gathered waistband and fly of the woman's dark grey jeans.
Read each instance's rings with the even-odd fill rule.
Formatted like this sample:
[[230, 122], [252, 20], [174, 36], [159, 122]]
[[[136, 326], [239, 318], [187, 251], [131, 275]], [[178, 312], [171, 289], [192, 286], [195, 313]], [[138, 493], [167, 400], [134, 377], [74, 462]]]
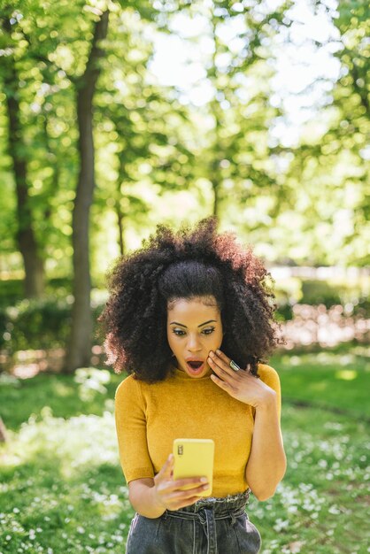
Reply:
[[231, 525], [242, 515], [248, 504], [250, 489], [237, 495], [229, 495], [224, 498], [208, 497], [200, 498], [195, 504], [185, 506], [180, 510], [166, 510], [162, 518], [197, 519], [203, 527], [207, 537], [207, 554], [217, 553], [217, 535], [215, 521], [217, 519], [231, 519]]

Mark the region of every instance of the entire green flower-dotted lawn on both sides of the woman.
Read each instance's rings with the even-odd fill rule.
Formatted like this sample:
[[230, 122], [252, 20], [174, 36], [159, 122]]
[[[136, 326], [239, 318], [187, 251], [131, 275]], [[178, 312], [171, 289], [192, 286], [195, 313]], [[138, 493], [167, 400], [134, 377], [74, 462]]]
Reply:
[[[289, 467], [274, 498], [258, 503], [251, 497], [248, 512], [263, 538], [261, 554], [370, 551], [364, 420], [370, 388], [361, 354], [352, 348], [327, 352], [327, 358], [285, 354], [272, 360], [281, 374]], [[338, 378], [343, 370], [356, 376]], [[41, 374], [0, 385], [10, 429], [0, 447], [1, 553], [124, 552], [134, 512], [112, 413], [122, 377], [111, 373], [104, 382], [107, 376], [82, 372], [76, 382]], [[325, 394], [318, 392], [321, 381]]]

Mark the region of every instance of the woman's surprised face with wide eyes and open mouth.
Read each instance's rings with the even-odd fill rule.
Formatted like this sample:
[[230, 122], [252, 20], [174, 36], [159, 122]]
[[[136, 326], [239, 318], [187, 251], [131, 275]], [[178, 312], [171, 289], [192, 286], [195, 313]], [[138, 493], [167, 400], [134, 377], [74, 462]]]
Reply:
[[178, 368], [189, 377], [211, 374], [208, 354], [222, 342], [220, 310], [214, 296], [173, 300], [167, 308], [167, 339]]

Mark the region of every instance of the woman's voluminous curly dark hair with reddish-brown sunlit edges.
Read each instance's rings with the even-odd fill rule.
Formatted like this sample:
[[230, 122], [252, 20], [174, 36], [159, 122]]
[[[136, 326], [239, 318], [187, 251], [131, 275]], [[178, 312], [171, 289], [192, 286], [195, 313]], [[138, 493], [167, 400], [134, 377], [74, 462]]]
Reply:
[[214, 296], [225, 331], [220, 349], [258, 375], [258, 362], [281, 343], [267, 276], [250, 247], [240, 246], [234, 234], [217, 232], [215, 218], [178, 232], [158, 225], [157, 233], [119, 258], [109, 274], [111, 295], [99, 318], [107, 364], [142, 381], [163, 381], [173, 371], [168, 304]]

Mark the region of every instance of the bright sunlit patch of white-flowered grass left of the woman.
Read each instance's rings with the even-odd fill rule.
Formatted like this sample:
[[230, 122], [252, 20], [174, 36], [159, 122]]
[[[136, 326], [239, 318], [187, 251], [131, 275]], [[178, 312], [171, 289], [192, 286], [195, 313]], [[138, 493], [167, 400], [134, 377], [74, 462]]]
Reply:
[[64, 419], [46, 406], [41, 417], [2, 446], [4, 552], [123, 551], [133, 511], [112, 412]]

